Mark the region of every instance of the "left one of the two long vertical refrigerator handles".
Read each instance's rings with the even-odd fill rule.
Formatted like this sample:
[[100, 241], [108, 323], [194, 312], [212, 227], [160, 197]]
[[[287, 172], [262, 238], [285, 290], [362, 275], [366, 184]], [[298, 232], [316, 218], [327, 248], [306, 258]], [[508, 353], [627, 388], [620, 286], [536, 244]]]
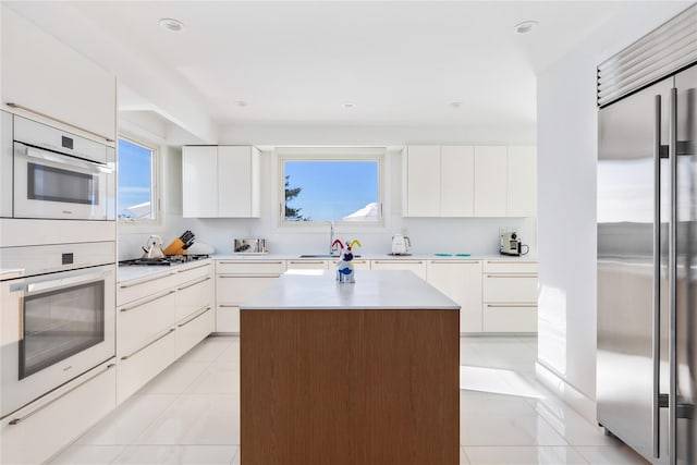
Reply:
[[660, 457], [661, 420], [661, 96], [655, 98], [653, 117], [653, 456]]

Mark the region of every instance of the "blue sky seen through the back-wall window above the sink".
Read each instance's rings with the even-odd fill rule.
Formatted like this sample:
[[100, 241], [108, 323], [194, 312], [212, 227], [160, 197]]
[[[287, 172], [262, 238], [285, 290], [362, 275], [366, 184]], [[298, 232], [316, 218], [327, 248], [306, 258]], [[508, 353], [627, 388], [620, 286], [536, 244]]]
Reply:
[[335, 221], [378, 199], [377, 161], [286, 161], [290, 188], [302, 187], [289, 201], [313, 221]]

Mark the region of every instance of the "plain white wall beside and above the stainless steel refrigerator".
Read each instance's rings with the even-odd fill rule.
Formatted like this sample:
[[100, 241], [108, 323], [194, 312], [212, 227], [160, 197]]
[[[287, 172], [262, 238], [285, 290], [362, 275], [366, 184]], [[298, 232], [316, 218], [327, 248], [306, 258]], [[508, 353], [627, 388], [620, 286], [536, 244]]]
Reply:
[[595, 419], [596, 65], [687, 2], [635, 2], [538, 75], [538, 377]]

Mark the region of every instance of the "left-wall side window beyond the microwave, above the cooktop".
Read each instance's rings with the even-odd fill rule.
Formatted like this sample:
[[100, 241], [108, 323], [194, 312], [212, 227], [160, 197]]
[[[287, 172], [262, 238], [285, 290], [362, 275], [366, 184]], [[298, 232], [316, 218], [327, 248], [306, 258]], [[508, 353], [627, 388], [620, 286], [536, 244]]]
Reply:
[[119, 138], [119, 191], [117, 211], [124, 221], [157, 220], [157, 150]]

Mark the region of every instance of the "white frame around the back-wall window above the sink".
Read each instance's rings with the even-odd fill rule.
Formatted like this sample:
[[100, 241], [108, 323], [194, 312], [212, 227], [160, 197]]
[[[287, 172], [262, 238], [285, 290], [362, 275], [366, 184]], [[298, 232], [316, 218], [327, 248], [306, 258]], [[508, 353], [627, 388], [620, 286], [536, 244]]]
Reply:
[[386, 194], [387, 185], [387, 149], [384, 147], [277, 147], [274, 204], [278, 205], [276, 215], [277, 228], [282, 232], [305, 232], [325, 230], [330, 220], [286, 221], [285, 220], [285, 171], [286, 161], [376, 161], [378, 163], [378, 205], [380, 218], [378, 221], [333, 221], [334, 227], [342, 231], [376, 231], [387, 227]]

